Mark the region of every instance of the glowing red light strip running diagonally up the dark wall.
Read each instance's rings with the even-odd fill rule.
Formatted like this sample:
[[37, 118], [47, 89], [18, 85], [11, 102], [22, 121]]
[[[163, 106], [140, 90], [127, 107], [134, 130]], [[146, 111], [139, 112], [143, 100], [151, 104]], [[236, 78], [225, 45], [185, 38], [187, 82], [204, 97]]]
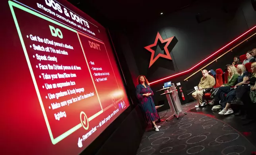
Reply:
[[235, 42], [236, 40], [238, 40], [239, 38], [241, 38], [242, 36], [244, 36], [245, 34], [247, 34], [248, 32], [250, 32], [251, 30], [253, 30], [256, 26], [254, 26], [253, 28], [251, 28], [250, 30], [246, 31], [244, 34], [242, 34], [241, 36], [239, 36], [238, 38], [236, 38], [235, 40], [233, 40], [232, 42], [228, 43], [227, 45], [223, 46], [221, 49], [219, 49], [218, 51], [214, 52], [212, 55], [210, 55], [209, 57], [207, 57], [206, 59], [202, 60], [201, 62], [199, 62], [198, 64], [196, 64], [195, 66], [193, 66], [192, 68], [190, 68], [189, 70], [185, 70], [183, 72], [180, 72], [180, 73], [177, 73], [177, 74], [174, 74], [174, 75], [171, 75], [171, 76], [168, 76], [168, 77], [165, 77], [163, 79], [159, 79], [157, 81], [153, 81], [149, 84], [153, 84], [153, 83], [157, 83], [159, 81], [163, 81], [165, 79], [169, 79], [171, 77], [175, 77], [175, 76], [178, 76], [180, 74], [184, 74], [184, 73], [187, 73], [187, 72], [190, 72], [191, 70], [193, 70], [194, 68], [196, 68], [197, 66], [199, 66], [200, 64], [202, 64], [203, 62], [205, 62], [206, 60], [208, 60], [209, 58], [211, 58], [213, 55], [217, 54], [219, 51], [221, 51], [222, 49], [224, 49], [225, 47], [227, 47], [228, 45], [230, 45], [231, 43]]

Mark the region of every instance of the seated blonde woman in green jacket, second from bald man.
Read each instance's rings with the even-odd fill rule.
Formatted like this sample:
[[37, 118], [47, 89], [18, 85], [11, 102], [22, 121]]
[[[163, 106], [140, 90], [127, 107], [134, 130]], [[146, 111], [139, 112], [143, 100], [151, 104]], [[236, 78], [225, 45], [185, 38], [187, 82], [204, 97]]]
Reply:
[[[235, 68], [235, 66], [232, 66], [232, 65], [228, 66], [227, 72], [229, 72], [228, 82], [226, 84], [223, 84], [221, 87], [219, 87], [217, 93], [214, 96], [214, 105], [218, 105], [219, 101], [221, 103], [224, 103], [225, 100], [223, 100], [223, 98], [221, 96], [229, 93], [229, 91], [231, 91], [231, 87], [235, 86], [237, 83], [238, 73], [237, 73], [237, 69]], [[221, 108], [221, 106], [219, 106], [219, 108]], [[214, 109], [214, 107], [213, 107], [213, 109]], [[216, 109], [216, 110], [218, 110], [218, 109]]]

